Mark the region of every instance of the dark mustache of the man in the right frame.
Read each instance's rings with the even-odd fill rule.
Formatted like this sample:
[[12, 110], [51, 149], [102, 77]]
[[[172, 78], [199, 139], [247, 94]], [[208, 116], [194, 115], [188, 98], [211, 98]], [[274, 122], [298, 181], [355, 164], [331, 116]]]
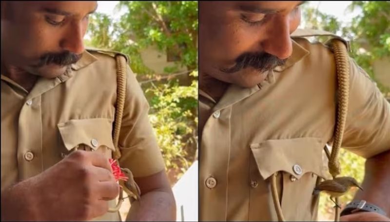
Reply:
[[225, 73], [234, 73], [243, 68], [255, 68], [260, 72], [271, 70], [277, 66], [282, 66], [287, 59], [279, 59], [277, 56], [271, 55], [267, 52], [244, 53], [237, 57], [235, 65], [232, 68], [220, 69]]

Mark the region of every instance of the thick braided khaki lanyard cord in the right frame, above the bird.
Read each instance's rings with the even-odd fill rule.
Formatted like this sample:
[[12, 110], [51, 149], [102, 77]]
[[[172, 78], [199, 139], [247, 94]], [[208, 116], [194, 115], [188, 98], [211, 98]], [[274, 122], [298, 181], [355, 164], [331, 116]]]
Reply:
[[[348, 112], [348, 100], [349, 100], [349, 84], [350, 84], [350, 70], [349, 70], [349, 56], [345, 44], [338, 39], [331, 39], [328, 46], [334, 53], [336, 62], [336, 73], [337, 73], [337, 117], [336, 127], [334, 131], [334, 139], [331, 153], [327, 147], [324, 147], [325, 153], [329, 159], [328, 167], [333, 179], [340, 174], [340, 163], [339, 163], [339, 150], [343, 140], [343, 134], [345, 129], [345, 122], [347, 120]], [[279, 202], [279, 195], [276, 188], [276, 173], [271, 178], [271, 191], [273, 197], [273, 204], [275, 206], [276, 215], [278, 221], [284, 222], [282, 208]], [[338, 198], [335, 198], [335, 203], [338, 205]], [[334, 221], [340, 220], [339, 208], [335, 207]]]

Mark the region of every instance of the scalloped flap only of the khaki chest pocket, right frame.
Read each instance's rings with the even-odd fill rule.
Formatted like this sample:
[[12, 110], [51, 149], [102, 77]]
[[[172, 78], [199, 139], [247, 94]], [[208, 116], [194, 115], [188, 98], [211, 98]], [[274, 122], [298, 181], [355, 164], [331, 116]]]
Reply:
[[297, 179], [307, 172], [326, 178], [322, 160], [325, 144], [314, 137], [273, 139], [252, 144], [251, 150], [264, 179], [277, 171], [288, 172]]

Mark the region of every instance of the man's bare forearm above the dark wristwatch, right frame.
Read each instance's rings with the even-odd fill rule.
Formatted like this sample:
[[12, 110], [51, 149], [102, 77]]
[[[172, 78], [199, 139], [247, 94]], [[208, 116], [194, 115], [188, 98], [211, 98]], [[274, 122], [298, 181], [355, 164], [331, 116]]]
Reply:
[[359, 190], [355, 200], [365, 200], [381, 207], [390, 215], [390, 151], [373, 156], [366, 161], [363, 191]]

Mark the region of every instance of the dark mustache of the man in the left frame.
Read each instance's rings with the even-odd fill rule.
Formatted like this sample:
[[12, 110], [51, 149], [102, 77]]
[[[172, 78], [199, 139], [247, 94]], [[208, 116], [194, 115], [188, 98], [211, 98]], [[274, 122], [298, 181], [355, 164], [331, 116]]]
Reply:
[[75, 54], [70, 51], [63, 51], [60, 53], [46, 53], [39, 58], [38, 64], [34, 65], [35, 68], [40, 68], [49, 64], [56, 64], [59, 66], [69, 66], [80, 60], [82, 54]]

